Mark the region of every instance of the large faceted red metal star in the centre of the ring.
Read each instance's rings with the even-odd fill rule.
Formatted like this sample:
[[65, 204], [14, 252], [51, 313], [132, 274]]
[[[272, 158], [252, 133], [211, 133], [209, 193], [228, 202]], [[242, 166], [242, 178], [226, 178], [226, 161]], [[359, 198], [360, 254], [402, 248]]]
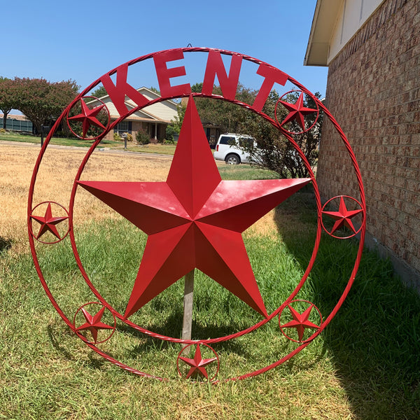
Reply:
[[78, 184], [149, 235], [128, 318], [195, 267], [267, 316], [241, 232], [309, 181], [222, 181], [191, 98], [166, 182]]

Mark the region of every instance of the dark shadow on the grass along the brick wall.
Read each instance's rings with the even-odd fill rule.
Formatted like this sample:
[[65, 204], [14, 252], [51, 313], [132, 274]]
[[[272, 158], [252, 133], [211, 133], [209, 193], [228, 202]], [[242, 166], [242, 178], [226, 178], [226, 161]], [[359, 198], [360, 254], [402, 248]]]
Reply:
[[[307, 194], [295, 194], [276, 209], [279, 234], [303, 269], [314, 244], [305, 238], [316, 223], [308, 214], [316, 210]], [[356, 241], [323, 233], [305, 289], [313, 291], [304, 298], [324, 317], [349, 281], [357, 247]], [[357, 419], [420, 418], [420, 297], [402, 286], [389, 262], [364, 251], [349, 295], [319, 339]]]

